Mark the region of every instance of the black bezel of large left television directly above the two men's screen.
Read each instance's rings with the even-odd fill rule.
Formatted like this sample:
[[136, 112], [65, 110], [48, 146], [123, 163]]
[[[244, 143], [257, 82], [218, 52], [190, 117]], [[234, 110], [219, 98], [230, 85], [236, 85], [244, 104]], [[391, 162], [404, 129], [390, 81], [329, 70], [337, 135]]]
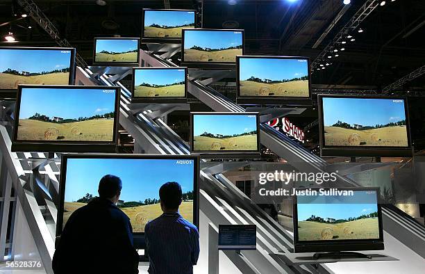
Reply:
[[[111, 141], [51, 141], [51, 140], [17, 140], [19, 111], [21, 106], [22, 88], [54, 88], [54, 89], [91, 89], [115, 90], [115, 114], [113, 140]], [[119, 96], [121, 89], [116, 86], [60, 86], [60, 85], [19, 85], [15, 108], [14, 130], [12, 136], [12, 152], [115, 152], [118, 141]], [[60, 98], [58, 98], [60, 99]]]

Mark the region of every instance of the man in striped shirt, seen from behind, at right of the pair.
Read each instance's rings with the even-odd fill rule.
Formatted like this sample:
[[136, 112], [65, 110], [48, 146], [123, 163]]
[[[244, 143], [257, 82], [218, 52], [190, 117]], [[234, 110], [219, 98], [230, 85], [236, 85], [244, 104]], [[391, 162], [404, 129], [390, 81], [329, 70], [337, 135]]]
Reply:
[[144, 227], [150, 274], [192, 274], [199, 257], [199, 232], [185, 220], [178, 207], [182, 202], [180, 184], [168, 182], [159, 191], [163, 215]]

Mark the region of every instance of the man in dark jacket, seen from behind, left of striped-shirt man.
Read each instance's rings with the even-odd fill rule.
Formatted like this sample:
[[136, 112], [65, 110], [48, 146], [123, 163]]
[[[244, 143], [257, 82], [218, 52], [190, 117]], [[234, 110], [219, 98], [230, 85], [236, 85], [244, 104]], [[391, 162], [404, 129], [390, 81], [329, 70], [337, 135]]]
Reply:
[[119, 177], [106, 175], [99, 198], [72, 213], [53, 255], [54, 273], [138, 273], [130, 220], [115, 205], [121, 189]]

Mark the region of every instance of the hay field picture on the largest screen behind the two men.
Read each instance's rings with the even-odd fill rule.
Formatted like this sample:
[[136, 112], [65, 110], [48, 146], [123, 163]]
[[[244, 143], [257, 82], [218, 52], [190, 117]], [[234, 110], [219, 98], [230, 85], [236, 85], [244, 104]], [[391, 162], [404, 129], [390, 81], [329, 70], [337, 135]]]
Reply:
[[193, 163], [179, 164], [172, 159], [68, 159], [63, 227], [76, 209], [98, 196], [99, 181], [107, 174], [122, 179], [117, 207], [130, 218], [133, 232], [144, 232], [147, 222], [163, 213], [158, 191], [166, 182], [181, 185], [179, 213], [193, 222]]

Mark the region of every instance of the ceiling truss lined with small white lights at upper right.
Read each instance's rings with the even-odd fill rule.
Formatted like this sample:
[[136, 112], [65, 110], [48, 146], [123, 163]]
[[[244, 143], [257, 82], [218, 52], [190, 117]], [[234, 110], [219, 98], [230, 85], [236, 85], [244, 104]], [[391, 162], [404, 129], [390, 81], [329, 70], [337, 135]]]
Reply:
[[333, 50], [337, 45], [340, 45], [342, 40], [347, 39], [349, 33], [353, 33], [354, 30], [358, 28], [361, 22], [370, 14], [372, 11], [379, 6], [380, 1], [376, 0], [367, 0], [361, 6], [357, 13], [345, 24], [345, 26], [340, 30], [340, 32], [335, 35], [335, 38], [323, 49], [323, 51], [315, 58], [315, 61], [311, 63], [312, 73], [319, 67], [320, 63], [326, 61], [328, 56], [333, 56]]

